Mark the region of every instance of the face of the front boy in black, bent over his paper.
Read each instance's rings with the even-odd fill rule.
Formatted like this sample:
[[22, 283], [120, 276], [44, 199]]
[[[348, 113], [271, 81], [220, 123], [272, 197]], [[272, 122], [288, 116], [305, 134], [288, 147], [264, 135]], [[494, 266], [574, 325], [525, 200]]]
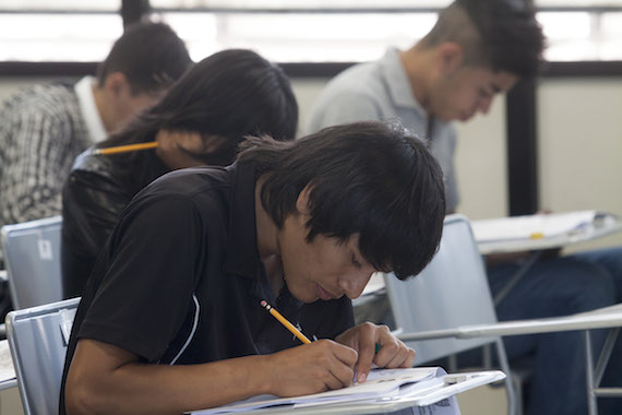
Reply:
[[346, 295], [361, 295], [374, 270], [362, 258], [358, 234], [339, 244], [338, 239], [318, 235], [307, 242], [309, 216], [288, 216], [279, 232], [279, 250], [285, 282], [299, 300], [313, 303]]

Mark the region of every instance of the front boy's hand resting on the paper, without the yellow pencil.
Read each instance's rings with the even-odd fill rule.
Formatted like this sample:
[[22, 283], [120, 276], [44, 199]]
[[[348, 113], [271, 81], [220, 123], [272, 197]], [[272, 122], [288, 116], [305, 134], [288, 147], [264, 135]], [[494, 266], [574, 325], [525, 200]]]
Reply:
[[[357, 381], [359, 382], [366, 381], [372, 363], [379, 367], [393, 369], [412, 367], [415, 361], [415, 351], [391, 334], [386, 325], [362, 323], [346, 330], [335, 341], [358, 352]], [[376, 344], [381, 346], [378, 353], [375, 353]]]

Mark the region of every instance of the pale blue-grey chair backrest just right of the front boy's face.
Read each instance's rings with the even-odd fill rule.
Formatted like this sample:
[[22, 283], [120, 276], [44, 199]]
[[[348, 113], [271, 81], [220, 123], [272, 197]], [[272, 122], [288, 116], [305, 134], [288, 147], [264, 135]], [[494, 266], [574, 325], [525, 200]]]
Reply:
[[[395, 323], [404, 333], [497, 322], [483, 260], [463, 215], [445, 218], [439, 251], [419, 275], [403, 282], [386, 274], [385, 285]], [[493, 342], [448, 337], [408, 345], [417, 351], [419, 365]]]

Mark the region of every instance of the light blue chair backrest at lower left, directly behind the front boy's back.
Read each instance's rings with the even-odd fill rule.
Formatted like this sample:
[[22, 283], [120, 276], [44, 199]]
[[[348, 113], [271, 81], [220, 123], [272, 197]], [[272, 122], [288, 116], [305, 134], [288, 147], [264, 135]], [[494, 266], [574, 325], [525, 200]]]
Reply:
[[58, 414], [60, 383], [80, 297], [7, 315], [7, 337], [25, 415]]

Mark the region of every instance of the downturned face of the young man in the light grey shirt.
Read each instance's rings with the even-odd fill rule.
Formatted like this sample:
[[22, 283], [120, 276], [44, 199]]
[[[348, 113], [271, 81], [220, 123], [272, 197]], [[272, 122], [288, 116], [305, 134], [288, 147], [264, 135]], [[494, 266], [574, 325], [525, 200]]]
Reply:
[[431, 94], [431, 111], [445, 121], [466, 121], [488, 114], [494, 95], [510, 91], [518, 76], [480, 67], [459, 67], [439, 78]]

